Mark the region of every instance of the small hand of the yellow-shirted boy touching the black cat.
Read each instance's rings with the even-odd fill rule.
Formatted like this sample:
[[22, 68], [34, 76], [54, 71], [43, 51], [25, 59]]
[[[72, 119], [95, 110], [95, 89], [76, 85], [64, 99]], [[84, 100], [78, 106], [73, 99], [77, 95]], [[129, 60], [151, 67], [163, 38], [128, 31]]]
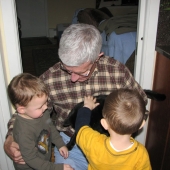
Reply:
[[96, 103], [96, 98], [93, 96], [84, 97], [84, 107], [88, 107], [90, 110], [93, 110], [98, 105], [99, 103]]

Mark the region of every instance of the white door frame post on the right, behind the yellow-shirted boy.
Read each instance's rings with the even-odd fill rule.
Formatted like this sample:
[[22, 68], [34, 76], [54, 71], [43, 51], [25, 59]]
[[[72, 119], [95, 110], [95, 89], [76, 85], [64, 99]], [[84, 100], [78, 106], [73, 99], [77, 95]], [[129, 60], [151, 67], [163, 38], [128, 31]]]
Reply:
[[[160, 0], [139, 0], [135, 79], [143, 89], [152, 89], [159, 4]], [[136, 138], [144, 145], [146, 133], [147, 122]]]

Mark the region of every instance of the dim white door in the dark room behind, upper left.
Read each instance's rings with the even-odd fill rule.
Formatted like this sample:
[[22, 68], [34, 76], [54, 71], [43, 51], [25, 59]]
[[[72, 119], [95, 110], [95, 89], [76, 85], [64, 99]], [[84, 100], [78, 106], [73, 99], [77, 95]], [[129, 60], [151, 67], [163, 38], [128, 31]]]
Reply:
[[46, 0], [16, 0], [22, 38], [48, 36]]

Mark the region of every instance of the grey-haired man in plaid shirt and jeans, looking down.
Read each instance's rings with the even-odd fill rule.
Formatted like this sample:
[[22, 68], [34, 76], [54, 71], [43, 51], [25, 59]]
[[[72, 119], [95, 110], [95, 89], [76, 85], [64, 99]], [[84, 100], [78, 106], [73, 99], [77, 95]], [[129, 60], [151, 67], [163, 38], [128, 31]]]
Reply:
[[[62, 34], [59, 45], [60, 62], [49, 68], [40, 78], [47, 85], [50, 96], [48, 106], [55, 109], [56, 129], [60, 131], [65, 143], [70, 140], [74, 130], [63, 127], [70, 110], [84, 96], [108, 95], [115, 89], [136, 89], [147, 104], [147, 96], [135, 81], [128, 68], [120, 62], [104, 56], [100, 51], [102, 38], [92, 25], [73, 24]], [[15, 114], [9, 122], [15, 121]], [[4, 144], [6, 153], [18, 163], [24, 163], [19, 148], [12, 140], [12, 126]], [[70, 164], [75, 170], [87, 170], [88, 162], [75, 145], [69, 157], [63, 159], [55, 148], [55, 162]]]

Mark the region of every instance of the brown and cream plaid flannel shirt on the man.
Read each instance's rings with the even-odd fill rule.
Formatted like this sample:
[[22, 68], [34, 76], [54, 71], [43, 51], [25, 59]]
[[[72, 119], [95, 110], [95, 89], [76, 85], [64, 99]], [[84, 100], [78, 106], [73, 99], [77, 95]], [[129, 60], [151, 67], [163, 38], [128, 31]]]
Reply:
[[[147, 104], [145, 92], [135, 81], [128, 68], [107, 56], [100, 58], [92, 76], [84, 82], [71, 82], [70, 75], [60, 69], [60, 63], [49, 68], [40, 78], [49, 88], [48, 107], [54, 107], [57, 113], [56, 128], [59, 131], [74, 132], [71, 127], [63, 127], [63, 122], [70, 110], [83, 101], [85, 95], [108, 95], [113, 90], [120, 88], [137, 89]], [[11, 131], [9, 132], [11, 133]]]

